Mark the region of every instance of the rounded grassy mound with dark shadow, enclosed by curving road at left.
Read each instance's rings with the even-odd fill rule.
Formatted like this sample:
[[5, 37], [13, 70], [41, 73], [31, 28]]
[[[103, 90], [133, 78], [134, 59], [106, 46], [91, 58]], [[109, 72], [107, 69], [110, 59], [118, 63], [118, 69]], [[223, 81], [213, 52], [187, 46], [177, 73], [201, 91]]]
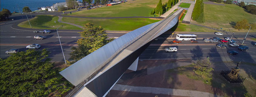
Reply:
[[[54, 21], [56, 21], [56, 23], [54, 23]], [[81, 28], [73, 25], [59, 23], [58, 17], [51, 15], [36, 15], [35, 18], [30, 19], [29, 22], [31, 24], [31, 27], [35, 29], [56, 29], [57, 24], [57, 27], [63, 25], [63, 27], [60, 27], [59, 29], [81, 30]], [[30, 28], [28, 21], [24, 21], [18, 24], [18, 26]]]

